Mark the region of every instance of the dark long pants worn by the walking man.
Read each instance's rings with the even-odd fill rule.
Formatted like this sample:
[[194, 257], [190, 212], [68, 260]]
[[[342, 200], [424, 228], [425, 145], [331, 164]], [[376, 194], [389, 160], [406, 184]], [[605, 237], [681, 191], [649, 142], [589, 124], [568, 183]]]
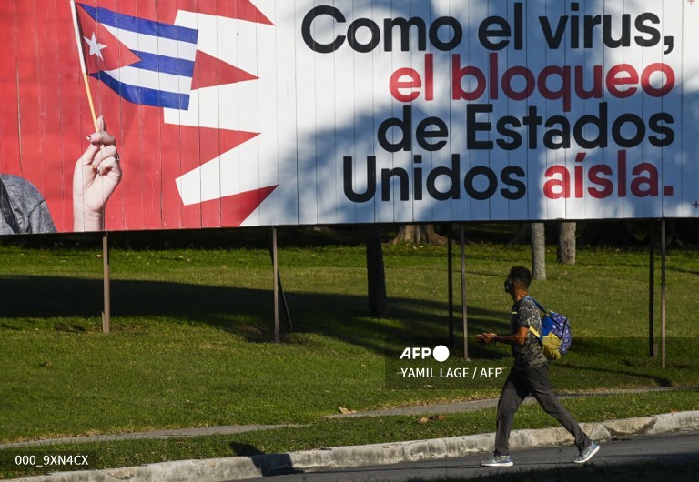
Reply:
[[578, 447], [578, 450], [590, 445], [590, 437], [587, 437], [568, 410], [562, 407], [561, 402], [553, 395], [549, 381], [549, 366], [543, 364], [539, 367], [513, 367], [507, 377], [498, 402], [495, 452], [501, 456], [510, 455], [512, 419], [524, 398], [530, 394], [536, 398], [547, 414], [558, 420], [575, 437], [575, 447]]

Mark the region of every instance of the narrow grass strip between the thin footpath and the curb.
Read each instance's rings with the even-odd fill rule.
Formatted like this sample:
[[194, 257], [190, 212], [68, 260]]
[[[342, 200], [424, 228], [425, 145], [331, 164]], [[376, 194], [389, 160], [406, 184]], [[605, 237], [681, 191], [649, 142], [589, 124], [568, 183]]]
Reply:
[[[631, 396], [582, 397], [564, 399], [563, 405], [581, 422], [642, 417], [648, 413], [667, 413], [677, 407], [699, 409], [695, 390], [690, 393], [644, 393]], [[686, 405], [688, 399], [694, 402]], [[279, 428], [239, 435], [173, 437], [166, 440], [130, 440], [123, 442], [62, 444], [49, 447], [25, 447], [0, 450], [0, 470], [4, 477], [20, 477], [34, 472], [15, 471], [12, 460], [24, 453], [79, 453], [95, 456], [92, 468], [132, 467], [173, 459], [253, 456], [285, 453], [321, 447], [338, 447], [437, 437], [460, 437], [494, 430], [495, 409], [432, 417], [420, 423], [415, 417], [322, 418], [303, 427]], [[556, 421], [538, 406], [523, 406], [515, 417], [515, 429], [556, 427]], [[487, 450], [489, 447], [483, 447]], [[545, 479], [544, 479], [545, 480]], [[649, 479], [650, 480], [650, 479]]]

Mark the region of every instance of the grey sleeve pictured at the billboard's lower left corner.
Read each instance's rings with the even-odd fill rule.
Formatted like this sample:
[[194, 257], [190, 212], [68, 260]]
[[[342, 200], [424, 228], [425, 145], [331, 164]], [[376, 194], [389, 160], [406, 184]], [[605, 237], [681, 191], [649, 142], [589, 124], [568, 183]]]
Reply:
[[[19, 176], [0, 175], [9, 197], [9, 206], [15, 216], [18, 231], [7, 223], [0, 213], [0, 235], [56, 233], [56, 225], [46, 206], [44, 196], [29, 181]], [[7, 213], [8, 216], [11, 216]]]

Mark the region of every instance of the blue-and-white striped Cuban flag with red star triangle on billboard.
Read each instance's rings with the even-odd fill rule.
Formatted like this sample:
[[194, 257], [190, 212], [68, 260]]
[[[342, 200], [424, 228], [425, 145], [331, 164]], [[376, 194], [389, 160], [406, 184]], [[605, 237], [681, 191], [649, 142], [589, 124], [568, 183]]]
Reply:
[[187, 110], [197, 30], [76, 5], [89, 75], [134, 104]]

